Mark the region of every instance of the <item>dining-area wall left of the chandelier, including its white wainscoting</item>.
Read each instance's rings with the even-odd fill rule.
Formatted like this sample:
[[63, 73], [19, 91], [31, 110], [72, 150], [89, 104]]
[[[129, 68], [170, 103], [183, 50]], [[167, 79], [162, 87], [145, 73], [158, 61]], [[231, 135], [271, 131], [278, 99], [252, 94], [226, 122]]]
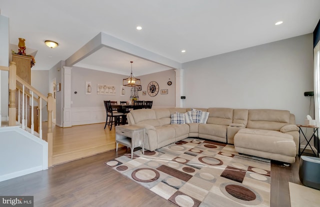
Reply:
[[[125, 75], [103, 72], [82, 67], [71, 69], [71, 123], [81, 125], [105, 121], [103, 100], [127, 101], [131, 87], [125, 87], [125, 95], [120, 96], [120, 86]], [[91, 82], [91, 94], [85, 94], [85, 81]], [[97, 84], [115, 86], [115, 95], [98, 95]], [[75, 94], [76, 92], [76, 94]]]

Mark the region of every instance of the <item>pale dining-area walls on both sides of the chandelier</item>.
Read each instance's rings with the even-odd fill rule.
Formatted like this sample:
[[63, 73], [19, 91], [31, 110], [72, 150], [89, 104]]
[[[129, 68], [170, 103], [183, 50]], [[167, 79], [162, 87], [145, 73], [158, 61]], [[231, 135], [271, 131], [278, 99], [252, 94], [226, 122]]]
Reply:
[[[129, 74], [128, 74], [129, 75]], [[105, 121], [105, 109], [103, 100], [128, 101], [131, 95], [131, 87], [125, 86], [125, 95], [120, 95], [120, 86], [122, 79], [128, 75], [120, 75], [110, 72], [103, 72], [82, 67], [72, 67], [71, 69], [71, 122], [72, 125], [98, 123]], [[152, 107], [174, 106], [174, 78], [173, 70], [157, 72], [148, 75], [139, 76], [141, 79], [142, 90], [138, 91], [139, 100], [153, 100]], [[168, 94], [158, 94], [151, 97], [146, 91], [147, 84], [150, 81], [157, 81], [159, 89], [168, 89]], [[168, 80], [172, 85], [168, 86]], [[85, 81], [91, 82], [91, 94], [85, 94]], [[116, 88], [115, 95], [98, 95], [97, 84], [114, 85]], [[76, 94], [75, 94], [76, 92]]]

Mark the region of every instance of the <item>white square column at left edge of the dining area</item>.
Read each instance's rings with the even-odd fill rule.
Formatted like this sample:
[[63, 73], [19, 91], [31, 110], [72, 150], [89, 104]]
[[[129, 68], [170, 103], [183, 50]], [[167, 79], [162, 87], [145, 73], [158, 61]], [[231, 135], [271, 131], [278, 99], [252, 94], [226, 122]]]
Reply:
[[[63, 117], [62, 127], [71, 127], [71, 69], [72, 67], [63, 66], [62, 98], [63, 98]], [[61, 89], [60, 89], [61, 90]]]

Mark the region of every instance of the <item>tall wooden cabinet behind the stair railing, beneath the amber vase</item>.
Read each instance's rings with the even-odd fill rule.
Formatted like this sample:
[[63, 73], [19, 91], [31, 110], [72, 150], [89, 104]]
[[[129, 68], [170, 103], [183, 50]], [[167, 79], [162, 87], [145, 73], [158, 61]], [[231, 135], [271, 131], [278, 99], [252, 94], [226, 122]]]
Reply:
[[[27, 82], [28, 84], [31, 84], [31, 60], [32, 57], [19, 55], [19, 54], [12, 54], [12, 61], [15, 62], [16, 65], [16, 75], [19, 76], [22, 80]], [[22, 84], [17, 83], [17, 86], [20, 86], [22, 88]], [[15, 101], [16, 101], [16, 120], [18, 115], [18, 91], [15, 93]], [[27, 98], [27, 127], [31, 127], [31, 103], [30, 98]], [[34, 103], [37, 104], [36, 100]], [[22, 92], [20, 92], [20, 114], [22, 114]], [[33, 107], [33, 118], [34, 118], [34, 130], [38, 131], [38, 112], [37, 112], [37, 106]]]

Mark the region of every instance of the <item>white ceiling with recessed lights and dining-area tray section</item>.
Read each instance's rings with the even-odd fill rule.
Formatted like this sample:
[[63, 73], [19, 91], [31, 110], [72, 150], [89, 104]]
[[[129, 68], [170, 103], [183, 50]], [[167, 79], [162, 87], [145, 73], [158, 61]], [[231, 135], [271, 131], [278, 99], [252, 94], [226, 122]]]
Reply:
[[[32, 69], [50, 69], [102, 32], [120, 39], [122, 49], [102, 45], [72, 65], [129, 74], [132, 60], [135, 76], [172, 65], [130, 53], [125, 43], [183, 63], [311, 33], [319, 8], [320, 0], [0, 0], [9, 42], [23, 37], [26, 53], [36, 51]], [[59, 46], [47, 47], [47, 39]]]

